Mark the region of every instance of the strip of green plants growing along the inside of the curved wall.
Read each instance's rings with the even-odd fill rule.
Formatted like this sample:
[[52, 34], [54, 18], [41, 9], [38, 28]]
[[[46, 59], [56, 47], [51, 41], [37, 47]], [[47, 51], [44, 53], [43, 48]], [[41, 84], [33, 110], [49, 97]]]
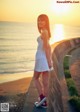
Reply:
[[71, 78], [69, 71], [69, 57], [64, 58], [64, 74], [70, 94], [69, 102], [76, 109], [77, 112], [80, 112], [80, 96], [78, 95], [74, 80]]

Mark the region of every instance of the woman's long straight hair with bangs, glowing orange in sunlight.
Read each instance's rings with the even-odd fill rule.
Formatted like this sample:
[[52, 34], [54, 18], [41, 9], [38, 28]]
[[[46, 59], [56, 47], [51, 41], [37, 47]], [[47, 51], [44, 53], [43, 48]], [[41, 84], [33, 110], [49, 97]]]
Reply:
[[[49, 26], [49, 18], [48, 18], [48, 16], [46, 14], [41, 14], [41, 15], [38, 16], [37, 21], [39, 20], [39, 18], [42, 21], [45, 21], [46, 22], [45, 28], [47, 29], [48, 35], [49, 35], [49, 38], [50, 38], [51, 37], [51, 33], [50, 33], [50, 26]], [[37, 25], [38, 25], [38, 22], [37, 22]], [[39, 25], [38, 25], [38, 30], [41, 33], [41, 27], [39, 27]]]

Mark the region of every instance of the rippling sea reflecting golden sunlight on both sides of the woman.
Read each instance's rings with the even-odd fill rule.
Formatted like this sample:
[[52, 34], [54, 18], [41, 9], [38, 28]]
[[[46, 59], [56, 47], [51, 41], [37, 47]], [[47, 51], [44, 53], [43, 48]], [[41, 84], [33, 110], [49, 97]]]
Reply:
[[[51, 43], [80, 37], [80, 27], [51, 24], [51, 34]], [[0, 22], [0, 74], [33, 71], [38, 36], [36, 23]]]

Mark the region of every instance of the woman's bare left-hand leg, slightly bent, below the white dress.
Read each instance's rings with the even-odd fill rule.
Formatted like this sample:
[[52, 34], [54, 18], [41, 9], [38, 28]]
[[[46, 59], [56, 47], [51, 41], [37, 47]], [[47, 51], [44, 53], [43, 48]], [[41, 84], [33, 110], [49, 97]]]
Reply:
[[41, 72], [34, 71], [34, 82], [35, 82], [35, 86], [38, 90], [39, 95], [43, 94], [42, 85], [41, 85], [41, 82], [39, 80], [40, 74], [41, 74]]

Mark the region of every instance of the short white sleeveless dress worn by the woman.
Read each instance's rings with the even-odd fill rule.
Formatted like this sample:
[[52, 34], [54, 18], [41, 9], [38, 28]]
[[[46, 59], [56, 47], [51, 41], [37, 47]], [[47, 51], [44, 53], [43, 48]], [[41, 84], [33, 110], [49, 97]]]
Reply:
[[41, 36], [38, 37], [37, 42], [38, 42], [38, 47], [37, 47], [37, 52], [35, 57], [34, 71], [37, 72], [49, 71], [49, 66], [48, 66], [45, 50], [43, 49], [43, 40]]

